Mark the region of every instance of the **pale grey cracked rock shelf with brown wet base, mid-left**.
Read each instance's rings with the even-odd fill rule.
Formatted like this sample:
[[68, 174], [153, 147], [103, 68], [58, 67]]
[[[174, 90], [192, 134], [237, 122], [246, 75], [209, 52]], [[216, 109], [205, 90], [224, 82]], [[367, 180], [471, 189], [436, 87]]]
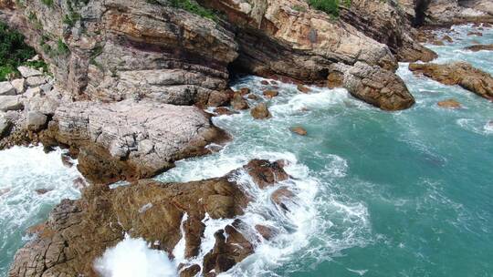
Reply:
[[202, 155], [225, 139], [199, 108], [155, 101], [79, 101], [59, 107], [47, 137], [79, 149], [79, 170], [89, 180], [149, 178], [173, 161]]

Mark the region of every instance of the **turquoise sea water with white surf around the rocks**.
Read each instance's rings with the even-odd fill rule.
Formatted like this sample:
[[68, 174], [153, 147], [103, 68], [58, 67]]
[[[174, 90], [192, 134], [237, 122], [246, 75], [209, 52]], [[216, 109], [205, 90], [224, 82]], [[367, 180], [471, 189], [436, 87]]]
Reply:
[[[493, 74], [492, 52], [462, 50], [474, 39], [493, 43], [493, 30], [467, 36], [471, 26], [455, 29], [454, 44], [430, 46], [440, 55], [437, 62], [467, 60]], [[241, 217], [278, 228], [278, 238], [258, 243], [257, 252], [226, 275], [493, 276], [493, 104], [460, 87], [414, 76], [406, 64], [398, 74], [417, 103], [394, 113], [372, 108], [344, 89], [312, 87], [304, 95], [278, 84], [279, 97], [267, 100], [273, 118], [254, 120], [248, 112], [215, 118], [233, 141], [215, 154], [180, 161], [157, 178], [200, 180], [249, 159], [288, 160], [288, 173], [296, 180], [279, 186], [297, 193], [290, 212], [269, 200], [275, 189], [247, 188], [254, 201]], [[266, 88], [261, 80], [245, 77], [235, 87], [249, 87], [261, 97]], [[448, 98], [464, 108], [436, 106]], [[293, 126], [306, 128], [308, 136], [291, 133]], [[66, 169], [53, 170], [55, 183], [67, 182], [59, 178]], [[1, 205], [8, 206], [9, 199], [0, 196]], [[49, 199], [42, 207], [57, 201]], [[0, 217], [4, 275], [23, 243], [20, 230], [42, 221], [47, 210], [26, 215], [14, 227], [11, 218]]]

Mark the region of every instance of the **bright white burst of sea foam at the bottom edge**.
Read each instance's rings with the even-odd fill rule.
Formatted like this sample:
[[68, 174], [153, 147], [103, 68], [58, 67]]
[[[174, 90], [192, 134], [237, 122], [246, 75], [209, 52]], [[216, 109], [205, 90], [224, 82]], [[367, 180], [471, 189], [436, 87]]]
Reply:
[[174, 277], [176, 266], [164, 251], [152, 250], [143, 239], [126, 236], [94, 262], [102, 277]]

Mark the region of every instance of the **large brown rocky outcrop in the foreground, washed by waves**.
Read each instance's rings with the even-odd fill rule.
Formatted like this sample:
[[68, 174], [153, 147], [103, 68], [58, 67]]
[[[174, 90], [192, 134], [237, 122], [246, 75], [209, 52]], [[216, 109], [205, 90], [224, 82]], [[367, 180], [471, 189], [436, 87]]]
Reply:
[[[279, 163], [267, 160], [254, 160], [244, 170], [261, 180], [263, 187], [288, 178]], [[206, 217], [234, 219], [247, 207], [249, 197], [234, 181], [236, 174], [188, 183], [140, 180], [113, 190], [91, 186], [80, 200], [63, 200], [47, 222], [31, 229], [37, 237], [17, 251], [9, 276], [96, 276], [94, 260], [122, 241], [125, 233], [152, 241], [153, 248], [168, 252], [171, 258], [184, 235], [185, 259], [196, 262], [193, 258], [199, 254]], [[212, 271], [226, 272], [241, 262], [255, 251], [245, 231], [257, 232], [237, 220], [217, 230], [215, 246], [206, 250], [203, 263], [185, 262], [182, 276], [191, 267], [214, 276]]]

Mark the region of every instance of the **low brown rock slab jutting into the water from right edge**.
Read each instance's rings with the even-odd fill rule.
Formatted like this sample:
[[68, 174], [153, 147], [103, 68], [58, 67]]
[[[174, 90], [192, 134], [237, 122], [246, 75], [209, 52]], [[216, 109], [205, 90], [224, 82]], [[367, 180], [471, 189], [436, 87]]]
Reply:
[[493, 101], [493, 77], [465, 62], [446, 65], [411, 64], [409, 69], [445, 85], [458, 85]]

